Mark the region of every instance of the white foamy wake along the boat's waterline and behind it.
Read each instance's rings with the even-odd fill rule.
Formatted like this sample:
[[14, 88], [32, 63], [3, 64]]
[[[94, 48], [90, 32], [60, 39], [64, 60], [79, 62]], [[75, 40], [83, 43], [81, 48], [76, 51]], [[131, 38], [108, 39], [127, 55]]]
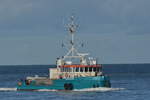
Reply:
[[[92, 91], [97, 91], [97, 92], [107, 92], [107, 91], [120, 91], [124, 90], [124, 88], [86, 88], [86, 89], [74, 89], [72, 92], [92, 92]], [[17, 88], [0, 88], [0, 91], [17, 91]], [[20, 91], [20, 90], [19, 90]], [[66, 90], [49, 90], [49, 89], [39, 89], [39, 90], [34, 90], [38, 92], [56, 92], [56, 91], [66, 91]]]

